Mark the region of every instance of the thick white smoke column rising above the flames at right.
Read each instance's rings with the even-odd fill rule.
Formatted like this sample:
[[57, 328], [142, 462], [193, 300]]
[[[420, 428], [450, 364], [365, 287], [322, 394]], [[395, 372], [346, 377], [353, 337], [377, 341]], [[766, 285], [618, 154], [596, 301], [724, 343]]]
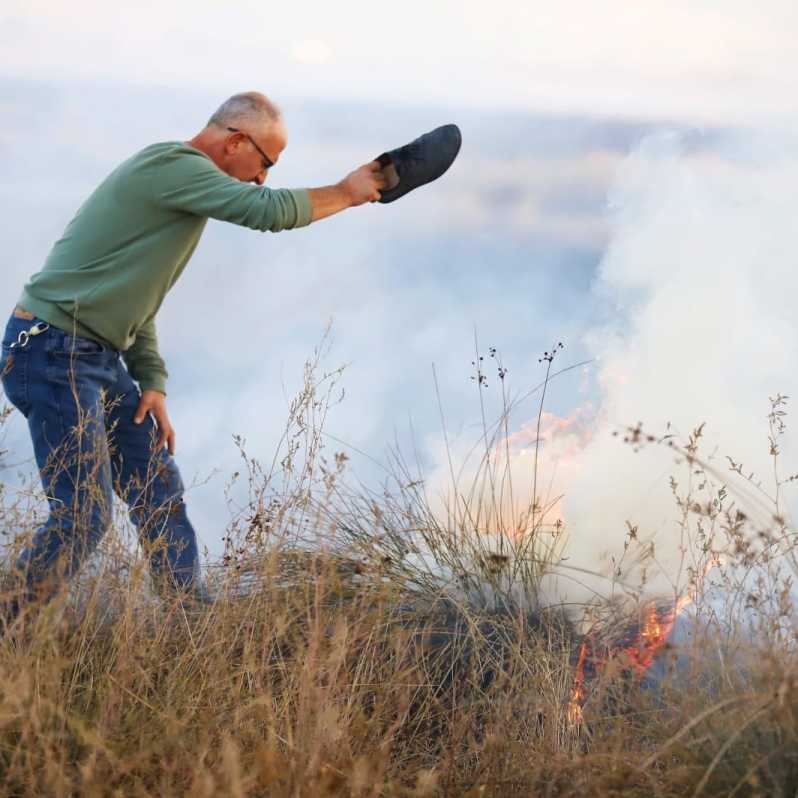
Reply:
[[[571, 564], [607, 573], [629, 522], [654, 543], [651, 589], [683, 581], [669, 479], [684, 485], [687, 468], [667, 447], [635, 451], [613, 435], [639, 422], [655, 436], [669, 424], [681, 442], [705, 422], [700, 451], [741, 506], [757, 491], [741, 485], [726, 455], [773, 492], [768, 397], [798, 396], [797, 178], [791, 132], [736, 132], [710, 149], [700, 134], [662, 133], [622, 164], [593, 286], [608, 319], [587, 336], [600, 411], [564, 488]], [[789, 416], [787, 427], [792, 473]], [[581, 598], [601, 580], [559, 588]]]

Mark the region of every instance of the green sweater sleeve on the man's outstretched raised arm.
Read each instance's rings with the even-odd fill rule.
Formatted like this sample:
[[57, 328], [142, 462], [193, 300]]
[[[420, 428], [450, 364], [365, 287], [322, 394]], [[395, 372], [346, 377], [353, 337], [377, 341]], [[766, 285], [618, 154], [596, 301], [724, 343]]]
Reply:
[[276, 189], [242, 183], [222, 172], [193, 147], [174, 151], [154, 176], [157, 202], [172, 210], [276, 233], [310, 224], [306, 189]]

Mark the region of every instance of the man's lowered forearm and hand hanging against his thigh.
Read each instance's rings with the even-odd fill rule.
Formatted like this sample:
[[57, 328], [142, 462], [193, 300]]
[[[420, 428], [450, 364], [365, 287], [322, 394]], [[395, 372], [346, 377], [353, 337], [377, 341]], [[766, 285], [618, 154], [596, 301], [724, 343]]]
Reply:
[[157, 448], [168, 446], [169, 454], [175, 453], [175, 431], [166, 410], [166, 379], [169, 376], [166, 365], [158, 352], [158, 335], [155, 320], [145, 322], [136, 332], [136, 340], [123, 354], [130, 376], [141, 389], [136, 414], [133, 421], [141, 424], [152, 413], [158, 425]]

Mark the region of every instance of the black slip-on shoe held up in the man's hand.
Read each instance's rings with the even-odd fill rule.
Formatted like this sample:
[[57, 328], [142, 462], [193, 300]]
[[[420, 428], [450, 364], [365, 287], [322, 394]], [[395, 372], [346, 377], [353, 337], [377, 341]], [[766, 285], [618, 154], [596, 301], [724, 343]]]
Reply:
[[462, 140], [457, 125], [443, 125], [404, 147], [384, 152], [376, 160], [389, 177], [389, 187], [380, 192], [378, 201], [393, 202], [408, 191], [437, 180], [452, 165]]

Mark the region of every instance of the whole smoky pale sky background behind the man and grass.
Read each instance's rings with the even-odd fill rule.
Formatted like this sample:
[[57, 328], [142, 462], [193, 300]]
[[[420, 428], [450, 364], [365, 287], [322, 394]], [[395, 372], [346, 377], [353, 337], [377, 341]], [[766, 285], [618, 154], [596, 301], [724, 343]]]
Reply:
[[[610, 562], [630, 518], [675, 551], [679, 466], [612, 432], [707, 421], [710, 451], [768, 467], [767, 397], [795, 393], [793, 4], [12, 2], [0, 23], [9, 308], [105, 174], [190, 137], [235, 91], [284, 109], [275, 186], [334, 182], [438, 124], [463, 132], [452, 169], [393, 205], [275, 236], [208, 225], [158, 326], [211, 556], [232, 435], [271, 457], [330, 320], [327, 362], [347, 364], [330, 450], [374, 482], [398, 441], [433, 492], [448, 489], [433, 363], [465, 458], [480, 434], [475, 335], [483, 355], [500, 350], [514, 396], [557, 341], [562, 366], [589, 361], [551, 386], [544, 424], [549, 489], [585, 567]], [[499, 382], [482, 391], [491, 417]], [[536, 412], [534, 398], [513, 411], [519, 485]], [[19, 461], [26, 436], [12, 418]]]

